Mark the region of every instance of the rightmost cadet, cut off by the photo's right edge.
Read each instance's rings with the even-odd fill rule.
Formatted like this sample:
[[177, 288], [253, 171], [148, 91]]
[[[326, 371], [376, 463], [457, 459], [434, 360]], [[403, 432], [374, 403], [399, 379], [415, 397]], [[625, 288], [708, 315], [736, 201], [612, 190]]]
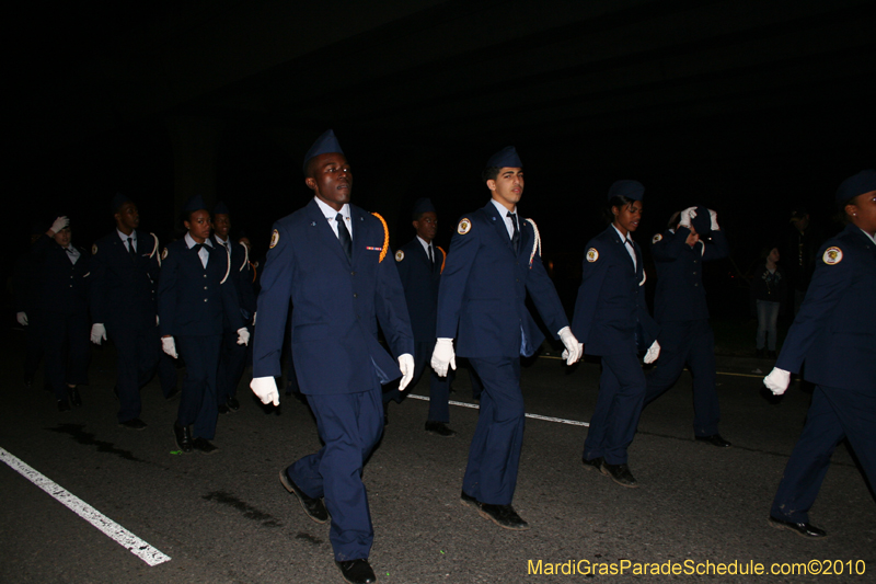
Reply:
[[876, 485], [876, 170], [843, 181], [835, 201], [848, 225], [821, 245], [803, 306], [763, 379], [781, 396], [805, 363], [804, 379], [815, 383], [770, 509], [770, 525], [809, 538], [827, 535], [809, 523], [809, 509], [843, 438]]

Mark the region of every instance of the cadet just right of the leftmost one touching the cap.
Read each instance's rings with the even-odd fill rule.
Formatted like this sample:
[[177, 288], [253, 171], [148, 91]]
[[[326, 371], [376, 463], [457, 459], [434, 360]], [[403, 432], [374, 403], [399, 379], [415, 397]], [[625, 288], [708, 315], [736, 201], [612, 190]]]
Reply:
[[128, 196], [118, 193], [110, 203], [116, 228], [91, 248], [91, 342], [111, 339], [116, 346], [118, 423], [143, 430], [140, 388], [159, 370], [164, 397], [177, 393], [173, 362], [161, 358], [155, 289], [159, 242], [141, 231], [140, 213]]

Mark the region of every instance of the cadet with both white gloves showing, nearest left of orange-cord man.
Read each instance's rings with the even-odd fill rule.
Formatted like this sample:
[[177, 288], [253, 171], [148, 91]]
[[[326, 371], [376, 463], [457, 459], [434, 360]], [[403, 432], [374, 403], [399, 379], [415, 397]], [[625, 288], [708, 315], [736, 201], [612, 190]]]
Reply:
[[229, 279], [228, 252], [210, 240], [210, 214], [200, 196], [188, 199], [183, 216], [185, 237], [162, 253], [159, 328], [164, 353], [176, 358], [178, 347], [185, 360], [183, 392], [173, 424], [176, 445], [184, 453], [196, 449], [209, 455], [218, 449], [210, 440], [218, 417], [216, 374], [223, 323], [238, 332], [241, 345], [249, 342], [250, 332], [243, 325], [238, 294]]

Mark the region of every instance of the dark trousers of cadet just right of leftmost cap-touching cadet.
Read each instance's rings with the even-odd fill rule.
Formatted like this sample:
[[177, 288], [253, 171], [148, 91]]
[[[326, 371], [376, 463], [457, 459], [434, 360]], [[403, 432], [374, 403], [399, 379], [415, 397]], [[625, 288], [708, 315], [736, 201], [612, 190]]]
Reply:
[[140, 388], [155, 375], [155, 367], [164, 396], [176, 387], [176, 369], [173, 359], [161, 351], [158, 327], [136, 329], [107, 322], [106, 335], [116, 346], [118, 421], [127, 422], [140, 416]]

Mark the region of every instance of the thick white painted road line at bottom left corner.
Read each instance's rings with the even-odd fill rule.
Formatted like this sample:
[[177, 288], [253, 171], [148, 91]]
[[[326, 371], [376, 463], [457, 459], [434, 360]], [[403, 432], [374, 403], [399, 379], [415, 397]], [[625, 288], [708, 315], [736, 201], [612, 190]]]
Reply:
[[70, 511], [103, 531], [110, 539], [115, 540], [116, 543], [127, 549], [149, 565], [154, 566], [170, 561], [170, 556], [165, 556], [157, 550], [58, 483], [28, 467], [3, 448], [0, 448], [0, 460], [12, 467], [12, 469], [18, 471], [22, 477], [54, 496], [59, 503], [67, 506]]

